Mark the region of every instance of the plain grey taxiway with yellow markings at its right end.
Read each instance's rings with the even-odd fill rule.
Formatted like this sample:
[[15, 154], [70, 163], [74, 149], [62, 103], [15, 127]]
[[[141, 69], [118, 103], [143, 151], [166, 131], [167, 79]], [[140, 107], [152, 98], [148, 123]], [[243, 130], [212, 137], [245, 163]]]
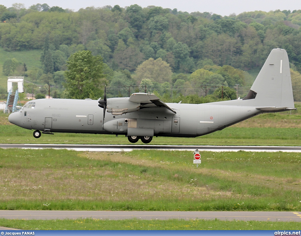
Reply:
[[295, 221], [301, 222], [301, 212], [278, 211], [43, 211], [0, 210], [5, 219], [220, 219], [241, 221]]

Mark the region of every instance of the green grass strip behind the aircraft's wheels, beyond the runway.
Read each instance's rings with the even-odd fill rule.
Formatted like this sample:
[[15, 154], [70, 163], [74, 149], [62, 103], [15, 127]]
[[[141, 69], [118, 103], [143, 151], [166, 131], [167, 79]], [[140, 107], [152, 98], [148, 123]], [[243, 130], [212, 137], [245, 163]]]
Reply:
[[[55, 133], [33, 137], [33, 130], [15, 125], [0, 125], [0, 143], [131, 144], [124, 135]], [[136, 144], [143, 144], [138, 141]], [[300, 146], [299, 128], [228, 127], [196, 138], [154, 137], [152, 145], [276, 145]]]

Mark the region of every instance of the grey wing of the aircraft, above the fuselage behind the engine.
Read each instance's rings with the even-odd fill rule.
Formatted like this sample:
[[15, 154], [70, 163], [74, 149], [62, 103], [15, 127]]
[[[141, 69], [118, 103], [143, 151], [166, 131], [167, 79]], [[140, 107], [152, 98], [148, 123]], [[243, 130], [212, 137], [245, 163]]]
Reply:
[[167, 106], [163, 101], [160, 100], [156, 95], [150, 93], [132, 93], [129, 97], [129, 101], [134, 103], [141, 103], [141, 108], [149, 107], [148, 105], [154, 104], [157, 107], [165, 107], [169, 111], [177, 114], [172, 108]]

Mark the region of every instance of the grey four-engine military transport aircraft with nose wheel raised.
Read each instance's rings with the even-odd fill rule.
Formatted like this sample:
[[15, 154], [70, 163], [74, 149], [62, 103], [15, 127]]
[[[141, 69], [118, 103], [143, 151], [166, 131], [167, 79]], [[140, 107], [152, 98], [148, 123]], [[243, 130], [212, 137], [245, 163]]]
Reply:
[[267, 112], [293, 110], [290, 66], [284, 49], [273, 49], [243, 99], [204, 104], [164, 103], [156, 95], [102, 100], [37, 99], [8, 120], [41, 132], [123, 134], [129, 142], [150, 143], [153, 136], [197, 137]]

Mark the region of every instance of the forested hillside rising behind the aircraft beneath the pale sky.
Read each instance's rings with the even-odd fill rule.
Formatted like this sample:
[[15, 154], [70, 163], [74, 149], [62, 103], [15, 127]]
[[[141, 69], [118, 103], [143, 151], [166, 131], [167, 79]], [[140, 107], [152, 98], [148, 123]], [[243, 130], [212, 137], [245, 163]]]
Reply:
[[245, 95], [270, 51], [284, 48], [294, 98], [301, 100], [301, 10], [222, 17], [156, 6], [73, 12], [47, 4], [28, 9], [14, 4], [0, 5], [0, 20], [5, 51], [42, 50], [41, 64], [31, 68], [18, 58], [1, 58], [2, 76], [25, 74], [33, 84], [55, 85], [55, 97], [66, 96], [66, 61], [80, 50], [102, 57], [110, 96], [151, 91], [167, 102], [206, 102], [236, 99], [236, 91]]

